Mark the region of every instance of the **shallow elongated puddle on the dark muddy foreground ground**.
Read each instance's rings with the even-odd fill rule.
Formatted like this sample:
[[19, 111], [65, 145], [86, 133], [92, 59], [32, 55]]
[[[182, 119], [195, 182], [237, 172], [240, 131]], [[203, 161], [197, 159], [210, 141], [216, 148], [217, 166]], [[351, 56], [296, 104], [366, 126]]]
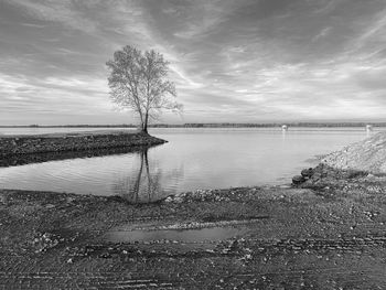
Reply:
[[243, 236], [247, 227], [210, 227], [196, 229], [161, 229], [161, 230], [111, 230], [105, 236], [107, 241], [132, 243], [154, 240], [178, 240], [180, 243], [207, 243]]

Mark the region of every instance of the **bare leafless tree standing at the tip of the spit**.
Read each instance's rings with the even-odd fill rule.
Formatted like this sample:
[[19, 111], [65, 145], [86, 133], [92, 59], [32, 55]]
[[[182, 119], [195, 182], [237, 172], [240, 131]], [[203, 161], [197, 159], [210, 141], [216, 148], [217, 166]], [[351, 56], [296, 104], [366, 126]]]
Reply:
[[148, 125], [162, 109], [181, 110], [175, 101], [176, 92], [168, 80], [169, 63], [156, 51], [141, 51], [125, 46], [114, 53], [114, 60], [106, 63], [110, 69], [108, 85], [114, 103], [122, 108], [133, 109], [140, 119], [141, 130], [148, 132]]

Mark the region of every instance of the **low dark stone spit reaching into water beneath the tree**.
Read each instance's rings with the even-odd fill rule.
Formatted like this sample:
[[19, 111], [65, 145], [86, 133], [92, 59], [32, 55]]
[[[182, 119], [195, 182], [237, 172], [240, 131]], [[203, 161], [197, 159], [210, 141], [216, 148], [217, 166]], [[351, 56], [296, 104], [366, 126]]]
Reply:
[[167, 141], [143, 132], [94, 131], [34, 136], [1, 136], [0, 159], [47, 152], [90, 151], [161, 144]]

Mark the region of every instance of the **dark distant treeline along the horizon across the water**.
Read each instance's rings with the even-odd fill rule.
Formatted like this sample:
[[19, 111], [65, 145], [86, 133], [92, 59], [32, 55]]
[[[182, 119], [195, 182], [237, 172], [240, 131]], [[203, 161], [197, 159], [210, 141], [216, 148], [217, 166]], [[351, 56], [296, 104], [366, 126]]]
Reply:
[[[237, 123], [237, 122], [189, 122], [182, 125], [173, 123], [154, 123], [152, 128], [272, 128], [287, 125], [288, 127], [313, 127], [313, 128], [339, 128], [339, 127], [386, 127], [386, 122], [267, 122], [267, 123]], [[132, 123], [120, 125], [63, 125], [63, 126], [0, 126], [0, 128], [138, 128]]]

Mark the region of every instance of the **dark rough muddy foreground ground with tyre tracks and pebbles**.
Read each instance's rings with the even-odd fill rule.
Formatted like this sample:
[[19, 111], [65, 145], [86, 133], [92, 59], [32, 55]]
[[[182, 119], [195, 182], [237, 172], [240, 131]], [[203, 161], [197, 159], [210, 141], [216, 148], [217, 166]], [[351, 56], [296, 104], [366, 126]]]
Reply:
[[[298, 187], [196, 191], [137, 205], [1, 190], [0, 289], [386, 289], [386, 178], [314, 172]], [[106, 238], [195, 228], [240, 232], [197, 241]]]

